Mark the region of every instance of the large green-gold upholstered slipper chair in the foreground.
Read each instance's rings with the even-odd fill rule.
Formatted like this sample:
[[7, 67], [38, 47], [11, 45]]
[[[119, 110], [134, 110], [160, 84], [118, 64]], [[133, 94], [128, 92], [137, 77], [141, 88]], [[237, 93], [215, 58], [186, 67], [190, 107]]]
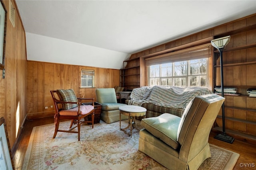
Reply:
[[181, 118], [164, 113], [142, 119], [139, 150], [168, 169], [198, 169], [211, 157], [208, 137], [224, 100], [216, 94], [198, 96]]

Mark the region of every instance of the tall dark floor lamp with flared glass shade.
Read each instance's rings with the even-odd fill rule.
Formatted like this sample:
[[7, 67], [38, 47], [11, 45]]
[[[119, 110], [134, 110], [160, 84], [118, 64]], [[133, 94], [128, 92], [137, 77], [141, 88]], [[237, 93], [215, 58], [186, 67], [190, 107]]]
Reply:
[[[230, 41], [230, 35], [218, 39], [211, 40], [212, 46], [220, 51], [220, 83], [221, 83], [221, 96], [224, 97], [224, 85], [223, 85], [223, 60], [222, 60], [222, 51], [224, 47]], [[228, 136], [225, 131], [225, 109], [224, 103], [222, 104], [222, 133], [214, 137], [215, 139], [225, 141], [228, 143], [233, 143], [234, 138]]]

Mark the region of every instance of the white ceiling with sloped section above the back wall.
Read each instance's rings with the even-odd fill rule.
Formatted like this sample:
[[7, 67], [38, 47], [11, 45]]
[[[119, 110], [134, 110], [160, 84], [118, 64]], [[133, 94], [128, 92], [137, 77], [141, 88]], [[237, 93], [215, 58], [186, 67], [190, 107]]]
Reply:
[[256, 12], [255, 0], [16, 0], [16, 4], [28, 60], [115, 69], [132, 53]]

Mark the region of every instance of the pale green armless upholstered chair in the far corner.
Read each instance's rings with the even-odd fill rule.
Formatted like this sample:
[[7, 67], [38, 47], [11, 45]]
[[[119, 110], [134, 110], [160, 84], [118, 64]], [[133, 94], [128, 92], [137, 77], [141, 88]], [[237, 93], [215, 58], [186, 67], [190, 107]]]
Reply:
[[[126, 104], [117, 103], [116, 92], [114, 88], [97, 88], [96, 89], [97, 102], [102, 104], [102, 111], [100, 119], [106, 123], [113, 123], [119, 121], [119, 106]], [[122, 115], [121, 120], [128, 119], [127, 116]]]

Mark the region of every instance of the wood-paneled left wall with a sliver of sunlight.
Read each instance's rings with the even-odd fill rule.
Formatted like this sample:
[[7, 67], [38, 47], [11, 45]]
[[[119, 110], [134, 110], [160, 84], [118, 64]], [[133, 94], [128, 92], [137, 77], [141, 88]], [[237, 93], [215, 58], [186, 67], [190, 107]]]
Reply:
[[15, 9], [15, 27], [9, 20], [9, 0], [4, 0], [7, 10], [5, 78], [0, 70], [0, 117], [7, 125], [10, 146], [20, 134], [20, 126], [26, 115], [26, 40], [25, 31]]

